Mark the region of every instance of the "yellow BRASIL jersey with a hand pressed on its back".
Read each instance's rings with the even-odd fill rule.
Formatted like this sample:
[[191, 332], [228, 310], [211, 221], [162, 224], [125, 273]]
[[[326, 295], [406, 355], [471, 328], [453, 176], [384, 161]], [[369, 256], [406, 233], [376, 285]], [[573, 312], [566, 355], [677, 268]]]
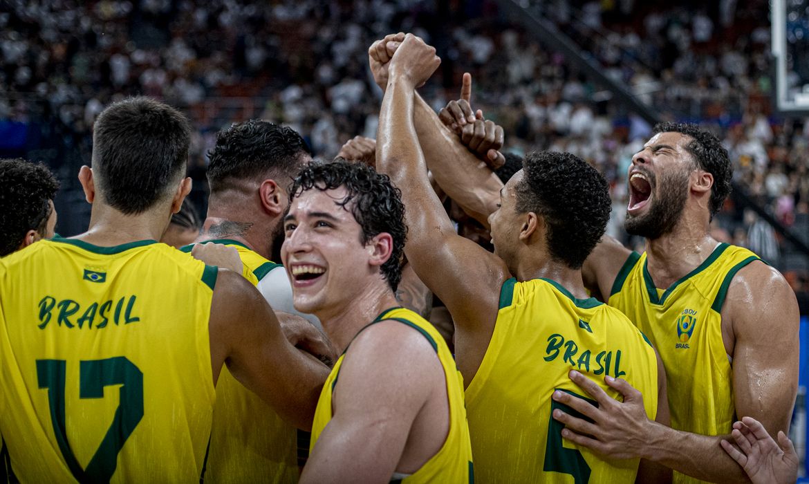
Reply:
[[580, 371], [610, 397], [604, 376], [643, 393], [657, 414], [657, 359], [643, 334], [620, 311], [596, 299], [576, 299], [550, 279], [517, 282], [500, 292], [489, 348], [466, 390], [472, 455], [479, 482], [633, 482], [639, 460], [604, 461], [562, 439], [555, 390], [582, 397], [569, 378]]

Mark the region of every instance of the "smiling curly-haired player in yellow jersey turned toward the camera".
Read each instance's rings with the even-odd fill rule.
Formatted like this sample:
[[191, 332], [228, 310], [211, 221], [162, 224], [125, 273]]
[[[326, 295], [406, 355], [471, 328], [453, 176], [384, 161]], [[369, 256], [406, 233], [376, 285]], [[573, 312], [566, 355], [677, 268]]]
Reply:
[[290, 190], [282, 261], [295, 308], [343, 354], [312, 423], [301, 482], [471, 482], [464, 385], [429, 322], [398, 307], [406, 227], [387, 176], [338, 160]]

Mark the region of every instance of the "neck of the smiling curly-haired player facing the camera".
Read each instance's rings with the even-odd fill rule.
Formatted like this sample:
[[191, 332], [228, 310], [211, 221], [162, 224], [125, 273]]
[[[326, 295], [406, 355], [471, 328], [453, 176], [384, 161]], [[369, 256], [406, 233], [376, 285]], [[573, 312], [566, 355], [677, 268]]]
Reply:
[[388, 282], [375, 281], [358, 291], [356, 298], [346, 298], [339, 307], [315, 313], [328, 338], [343, 353], [357, 333], [386, 309], [399, 306]]

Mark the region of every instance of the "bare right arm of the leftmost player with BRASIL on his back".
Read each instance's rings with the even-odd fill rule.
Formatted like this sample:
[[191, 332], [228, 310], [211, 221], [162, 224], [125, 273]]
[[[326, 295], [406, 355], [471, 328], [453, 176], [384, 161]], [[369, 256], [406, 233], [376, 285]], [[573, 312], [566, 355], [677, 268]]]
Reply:
[[241, 275], [220, 270], [210, 309], [214, 384], [222, 364], [278, 414], [308, 430], [328, 367], [286, 341], [273, 310]]

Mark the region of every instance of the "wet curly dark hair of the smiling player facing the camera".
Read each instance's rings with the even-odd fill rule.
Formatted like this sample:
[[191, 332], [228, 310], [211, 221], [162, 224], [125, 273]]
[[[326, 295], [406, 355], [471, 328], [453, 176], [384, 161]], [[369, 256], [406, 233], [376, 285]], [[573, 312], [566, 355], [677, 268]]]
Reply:
[[354, 215], [361, 227], [360, 243], [388, 233], [393, 238], [391, 257], [380, 268], [392, 291], [396, 291], [402, 278], [404, 240], [404, 203], [401, 191], [391, 183], [388, 175], [377, 173], [363, 163], [349, 163], [336, 158], [332, 163], [310, 163], [293, 180], [290, 202], [310, 189], [326, 191], [345, 187], [348, 194], [339, 205]]

